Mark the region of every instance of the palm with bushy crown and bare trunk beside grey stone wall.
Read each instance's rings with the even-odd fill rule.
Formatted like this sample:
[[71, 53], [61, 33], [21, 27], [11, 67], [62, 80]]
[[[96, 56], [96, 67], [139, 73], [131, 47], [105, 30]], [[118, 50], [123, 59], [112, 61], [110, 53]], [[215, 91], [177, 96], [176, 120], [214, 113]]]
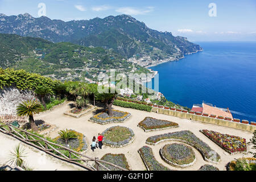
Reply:
[[42, 106], [37, 101], [24, 101], [17, 106], [16, 110], [19, 116], [28, 115], [32, 131], [38, 131], [33, 114], [37, 114], [42, 111]]

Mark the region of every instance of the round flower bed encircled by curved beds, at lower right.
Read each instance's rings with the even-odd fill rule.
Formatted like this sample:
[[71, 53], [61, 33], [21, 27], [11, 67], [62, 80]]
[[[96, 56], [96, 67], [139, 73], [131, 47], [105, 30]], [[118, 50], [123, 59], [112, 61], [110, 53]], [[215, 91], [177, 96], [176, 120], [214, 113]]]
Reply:
[[193, 149], [184, 144], [166, 144], [160, 149], [162, 159], [175, 167], [188, 167], [196, 162]]

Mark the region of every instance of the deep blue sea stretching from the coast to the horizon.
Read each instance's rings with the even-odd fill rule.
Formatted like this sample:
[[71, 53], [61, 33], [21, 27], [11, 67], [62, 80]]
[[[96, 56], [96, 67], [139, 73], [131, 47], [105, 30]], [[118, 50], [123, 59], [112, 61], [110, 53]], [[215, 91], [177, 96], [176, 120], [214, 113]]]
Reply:
[[204, 51], [151, 67], [159, 92], [176, 104], [203, 101], [256, 122], [256, 42], [196, 42]]

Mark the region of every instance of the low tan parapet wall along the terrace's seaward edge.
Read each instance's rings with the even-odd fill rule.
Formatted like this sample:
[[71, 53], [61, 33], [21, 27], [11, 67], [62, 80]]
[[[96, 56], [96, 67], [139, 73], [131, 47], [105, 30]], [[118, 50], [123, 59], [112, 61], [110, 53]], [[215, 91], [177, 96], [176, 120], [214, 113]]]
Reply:
[[175, 117], [190, 119], [193, 121], [201, 121], [201, 122], [210, 123], [213, 125], [231, 127], [233, 129], [245, 130], [245, 131], [250, 131], [250, 132], [253, 132], [254, 130], [256, 130], [256, 126], [254, 126], [254, 125], [238, 123], [238, 122], [233, 122], [233, 121], [226, 121], [224, 119], [210, 118], [210, 117], [206, 117], [203, 115], [183, 113], [181, 111], [174, 111], [174, 110], [152, 107], [152, 112], [172, 115]]

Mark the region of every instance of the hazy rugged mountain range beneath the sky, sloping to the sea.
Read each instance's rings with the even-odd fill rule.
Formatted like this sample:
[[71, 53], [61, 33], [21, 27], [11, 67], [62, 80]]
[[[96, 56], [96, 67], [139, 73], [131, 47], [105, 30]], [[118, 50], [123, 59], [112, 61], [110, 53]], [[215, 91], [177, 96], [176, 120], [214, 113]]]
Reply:
[[156, 61], [179, 59], [202, 50], [187, 38], [152, 30], [129, 15], [64, 22], [46, 16], [34, 18], [27, 13], [17, 16], [0, 14], [0, 33], [113, 49], [126, 59], [135, 56], [148, 56]]

